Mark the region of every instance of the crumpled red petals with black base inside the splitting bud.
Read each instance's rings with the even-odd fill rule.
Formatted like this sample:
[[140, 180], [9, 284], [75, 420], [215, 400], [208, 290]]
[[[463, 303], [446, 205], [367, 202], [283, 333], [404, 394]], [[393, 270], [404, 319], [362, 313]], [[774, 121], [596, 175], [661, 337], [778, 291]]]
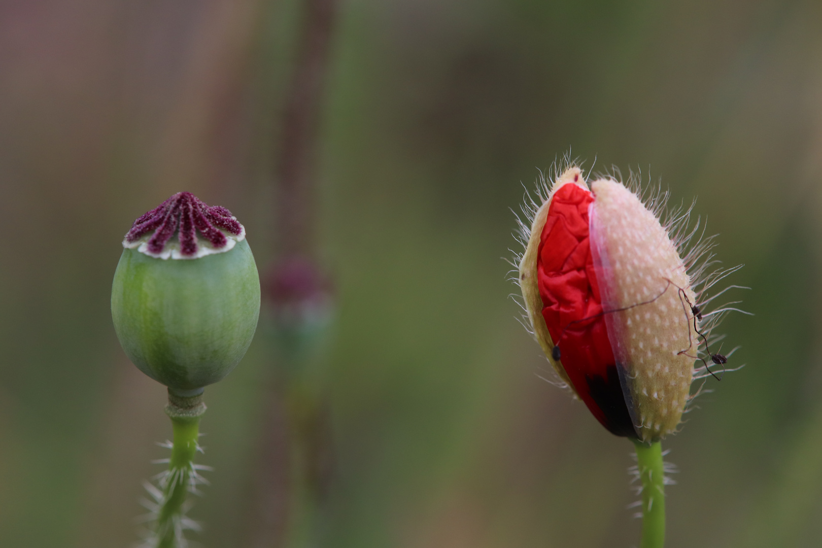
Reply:
[[593, 194], [575, 184], [557, 190], [538, 248], [543, 318], [561, 364], [594, 417], [616, 435], [635, 437], [608, 339], [589, 244]]

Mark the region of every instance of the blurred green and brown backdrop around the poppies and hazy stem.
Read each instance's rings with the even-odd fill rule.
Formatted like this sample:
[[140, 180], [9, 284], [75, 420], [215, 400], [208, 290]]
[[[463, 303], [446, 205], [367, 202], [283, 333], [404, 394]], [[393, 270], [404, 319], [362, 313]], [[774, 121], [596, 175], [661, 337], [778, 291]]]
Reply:
[[[173, 192], [274, 254], [300, 0], [0, 2], [0, 545], [131, 546], [169, 437], [123, 355], [110, 283]], [[524, 190], [567, 151], [670, 188], [720, 233], [755, 316], [746, 363], [666, 441], [668, 545], [822, 538], [822, 4], [343, 0], [316, 153], [335, 279], [335, 472], [321, 546], [635, 546], [626, 440], [541, 380], [504, 258]], [[242, 546], [256, 338], [206, 390], [192, 517]], [[281, 466], [282, 463], [272, 463]]]

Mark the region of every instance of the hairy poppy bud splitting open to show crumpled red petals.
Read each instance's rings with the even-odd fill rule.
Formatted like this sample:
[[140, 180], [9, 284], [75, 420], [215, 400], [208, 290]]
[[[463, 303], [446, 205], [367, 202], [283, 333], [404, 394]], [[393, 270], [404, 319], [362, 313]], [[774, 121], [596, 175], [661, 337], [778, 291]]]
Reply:
[[589, 188], [571, 167], [524, 236], [520, 288], [557, 374], [615, 435], [675, 431], [700, 334], [687, 265], [657, 216], [621, 182]]

